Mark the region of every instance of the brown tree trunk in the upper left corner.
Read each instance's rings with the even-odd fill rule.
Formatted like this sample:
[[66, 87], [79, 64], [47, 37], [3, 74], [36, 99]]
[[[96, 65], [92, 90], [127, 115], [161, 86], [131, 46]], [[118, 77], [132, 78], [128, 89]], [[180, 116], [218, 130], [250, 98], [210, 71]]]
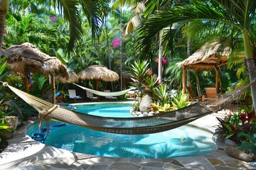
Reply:
[[0, 0], [0, 55], [4, 38], [4, 25], [6, 21], [6, 13], [8, 11], [8, 4], [8, 0]]

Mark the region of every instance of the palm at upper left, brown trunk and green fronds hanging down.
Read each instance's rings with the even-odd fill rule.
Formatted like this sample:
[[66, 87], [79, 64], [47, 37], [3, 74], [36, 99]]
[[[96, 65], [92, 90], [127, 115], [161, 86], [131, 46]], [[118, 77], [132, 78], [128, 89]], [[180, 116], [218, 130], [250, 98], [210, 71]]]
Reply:
[[[11, 0], [10, 0], [11, 1]], [[48, 4], [48, 6], [53, 6], [58, 8], [60, 13], [63, 13], [65, 21], [69, 24], [70, 29], [70, 41], [69, 41], [69, 50], [74, 49], [74, 45], [78, 43], [79, 38], [82, 35], [81, 27], [81, 16], [80, 8], [82, 6], [82, 11], [85, 13], [87, 21], [90, 23], [92, 29], [92, 38], [95, 38], [97, 34], [100, 33], [102, 26], [102, 17], [100, 13], [100, 6], [105, 2], [102, 0], [67, 0], [67, 1], [38, 1], [43, 5]], [[4, 35], [4, 23], [6, 20], [6, 13], [9, 8], [9, 0], [0, 0], [0, 42], [3, 41]], [[2, 44], [2, 43], [0, 43]], [[1, 45], [0, 45], [1, 47]]]

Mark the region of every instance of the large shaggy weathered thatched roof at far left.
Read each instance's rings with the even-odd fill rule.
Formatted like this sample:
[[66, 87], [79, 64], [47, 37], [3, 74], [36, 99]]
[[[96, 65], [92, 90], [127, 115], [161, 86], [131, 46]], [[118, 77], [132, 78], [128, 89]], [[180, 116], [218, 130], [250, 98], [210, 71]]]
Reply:
[[4, 50], [1, 55], [8, 55], [7, 62], [15, 72], [30, 72], [41, 74], [48, 77], [52, 74], [68, 79], [68, 69], [58, 60], [57, 57], [50, 57], [36, 48], [35, 45], [25, 42], [21, 45], [12, 45]]

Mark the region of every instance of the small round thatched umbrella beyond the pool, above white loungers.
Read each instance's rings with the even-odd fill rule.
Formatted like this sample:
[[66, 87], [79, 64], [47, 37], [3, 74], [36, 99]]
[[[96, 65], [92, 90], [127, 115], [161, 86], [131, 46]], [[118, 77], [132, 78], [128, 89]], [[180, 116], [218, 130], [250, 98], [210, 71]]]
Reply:
[[103, 81], [117, 81], [119, 76], [107, 67], [102, 65], [91, 65], [78, 73], [79, 79], [96, 79], [96, 88], [98, 90], [99, 80]]

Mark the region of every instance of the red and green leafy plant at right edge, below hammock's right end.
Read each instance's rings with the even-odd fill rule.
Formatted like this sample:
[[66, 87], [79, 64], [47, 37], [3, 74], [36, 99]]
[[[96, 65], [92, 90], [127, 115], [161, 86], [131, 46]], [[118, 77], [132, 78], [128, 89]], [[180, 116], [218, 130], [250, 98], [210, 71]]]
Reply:
[[220, 123], [219, 128], [226, 139], [240, 143], [246, 140], [246, 137], [238, 135], [239, 132], [247, 135], [253, 135], [256, 132], [255, 111], [250, 111], [246, 107], [242, 107], [238, 113], [229, 113], [225, 118], [217, 119]]

